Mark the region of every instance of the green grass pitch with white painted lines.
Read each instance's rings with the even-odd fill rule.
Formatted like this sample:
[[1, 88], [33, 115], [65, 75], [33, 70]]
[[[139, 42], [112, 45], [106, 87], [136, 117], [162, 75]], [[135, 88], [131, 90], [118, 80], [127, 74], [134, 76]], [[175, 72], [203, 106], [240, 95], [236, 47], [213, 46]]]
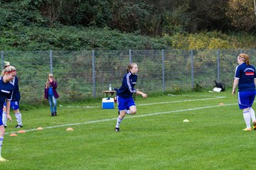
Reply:
[[[142, 98], [114, 132], [117, 105], [58, 103], [21, 111], [23, 130], [8, 123], [1, 169], [253, 169], [256, 131], [244, 132], [230, 91]], [[224, 103], [224, 105], [220, 105]], [[72, 107], [71, 107], [72, 106]], [[88, 107], [92, 106], [92, 107]], [[190, 120], [183, 123], [183, 120]], [[42, 127], [43, 130], [36, 130]], [[73, 131], [66, 131], [73, 128]]]

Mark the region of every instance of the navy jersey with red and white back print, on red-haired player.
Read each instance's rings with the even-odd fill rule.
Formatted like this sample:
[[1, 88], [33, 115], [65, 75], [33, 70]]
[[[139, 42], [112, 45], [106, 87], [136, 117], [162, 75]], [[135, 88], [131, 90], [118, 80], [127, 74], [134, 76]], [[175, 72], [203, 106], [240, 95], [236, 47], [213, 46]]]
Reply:
[[238, 81], [238, 91], [255, 91], [255, 67], [245, 62], [235, 68], [235, 79]]

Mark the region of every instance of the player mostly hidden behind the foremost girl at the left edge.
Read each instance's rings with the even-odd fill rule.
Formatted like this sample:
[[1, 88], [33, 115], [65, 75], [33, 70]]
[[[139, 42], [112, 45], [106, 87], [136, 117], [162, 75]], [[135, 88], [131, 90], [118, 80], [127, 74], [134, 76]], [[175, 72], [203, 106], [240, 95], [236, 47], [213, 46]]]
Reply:
[[[9, 66], [10, 66], [9, 62], [4, 62], [4, 68]], [[15, 128], [23, 128], [21, 112], [19, 111], [19, 101], [21, 99], [21, 94], [18, 89], [18, 78], [15, 77], [15, 79], [12, 80], [10, 83], [14, 84], [14, 94], [13, 94], [13, 97], [11, 98], [11, 108], [14, 110], [16, 121], [17, 121], [17, 125], [15, 126]], [[3, 123], [4, 123], [4, 128], [7, 128], [6, 103], [4, 103], [4, 109], [3, 109]]]

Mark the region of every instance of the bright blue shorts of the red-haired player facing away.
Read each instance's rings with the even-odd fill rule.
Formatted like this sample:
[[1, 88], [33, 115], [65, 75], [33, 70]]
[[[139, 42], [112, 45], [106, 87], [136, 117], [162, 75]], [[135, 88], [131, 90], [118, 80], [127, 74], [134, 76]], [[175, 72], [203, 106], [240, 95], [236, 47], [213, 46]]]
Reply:
[[238, 105], [240, 109], [252, 107], [255, 99], [255, 91], [240, 91], [238, 92]]

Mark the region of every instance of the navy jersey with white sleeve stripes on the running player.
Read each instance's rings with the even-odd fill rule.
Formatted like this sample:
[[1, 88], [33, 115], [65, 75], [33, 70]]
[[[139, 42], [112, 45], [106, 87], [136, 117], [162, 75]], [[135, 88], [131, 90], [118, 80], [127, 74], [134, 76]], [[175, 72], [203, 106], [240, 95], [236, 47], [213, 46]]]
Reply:
[[117, 96], [121, 96], [123, 98], [132, 97], [132, 94], [137, 92], [137, 90], [134, 89], [136, 81], [137, 74], [132, 74], [132, 72], [125, 74], [122, 81], [122, 86], [117, 91]]

